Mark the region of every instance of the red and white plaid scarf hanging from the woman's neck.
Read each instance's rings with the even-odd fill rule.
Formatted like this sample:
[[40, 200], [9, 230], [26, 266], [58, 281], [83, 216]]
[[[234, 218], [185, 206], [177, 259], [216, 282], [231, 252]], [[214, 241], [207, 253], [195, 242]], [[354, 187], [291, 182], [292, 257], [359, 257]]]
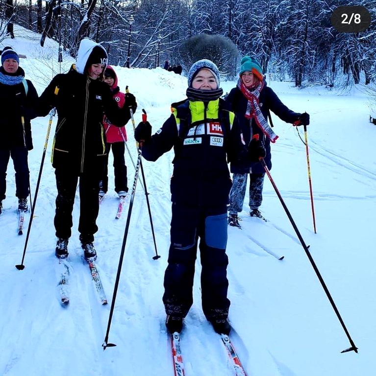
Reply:
[[237, 87], [243, 93], [248, 100], [247, 111], [244, 115], [247, 119], [254, 119], [257, 126], [262, 130], [264, 135], [270, 139], [271, 142], [276, 142], [278, 136], [273, 132], [273, 129], [269, 126], [268, 122], [262, 115], [259, 106], [259, 97], [261, 90], [264, 87], [264, 82], [260, 81], [256, 86], [252, 86], [251, 90], [244, 85], [241, 78], [238, 79]]

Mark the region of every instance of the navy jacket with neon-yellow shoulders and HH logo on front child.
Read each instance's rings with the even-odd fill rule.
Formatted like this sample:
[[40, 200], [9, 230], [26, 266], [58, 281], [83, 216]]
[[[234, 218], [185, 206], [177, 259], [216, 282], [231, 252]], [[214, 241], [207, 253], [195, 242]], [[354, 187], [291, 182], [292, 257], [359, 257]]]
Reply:
[[210, 110], [205, 111], [203, 102], [173, 104], [175, 115], [143, 145], [142, 155], [148, 161], [174, 147], [174, 203], [209, 207], [228, 203], [232, 183], [226, 159], [240, 148], [239, 125], [223, 99], [208, 106]]

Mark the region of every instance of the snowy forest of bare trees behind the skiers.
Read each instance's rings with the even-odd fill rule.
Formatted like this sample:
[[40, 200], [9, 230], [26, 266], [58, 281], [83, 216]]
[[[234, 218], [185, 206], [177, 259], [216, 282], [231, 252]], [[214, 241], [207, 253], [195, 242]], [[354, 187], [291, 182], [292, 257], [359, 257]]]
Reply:
[[[370, 27], [336, 31], [330, 16], [341, 5], [364, 6]], [[271, 80], [298, 87], [376, 81], [375, 0], [0, 0], [0, 42], [14, 23], [40, 33], [42, 47], [48, 36], [73, 57], [90, 37], [106, 47], [112, 65], [124, 67], [169, 60], [187, 71], [211, 56], [231, 79], [241, 57], [251, 55]]]

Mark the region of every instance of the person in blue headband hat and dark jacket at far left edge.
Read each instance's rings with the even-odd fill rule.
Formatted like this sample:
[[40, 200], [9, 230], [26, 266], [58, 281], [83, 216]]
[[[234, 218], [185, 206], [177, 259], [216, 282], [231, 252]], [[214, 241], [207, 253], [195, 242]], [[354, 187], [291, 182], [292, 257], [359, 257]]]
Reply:
[[32, 110], [38, 94], [25, 71], [19, 66], [20, 58], [12, 47], [4, 47], [0, 68], [0, 214], [6, 192], [6, 170], [12, 158], [16, 172], [18, 210], [27, 211], [29, 195], [28, 151], [33, 148], [30, 119], [38, 114]]

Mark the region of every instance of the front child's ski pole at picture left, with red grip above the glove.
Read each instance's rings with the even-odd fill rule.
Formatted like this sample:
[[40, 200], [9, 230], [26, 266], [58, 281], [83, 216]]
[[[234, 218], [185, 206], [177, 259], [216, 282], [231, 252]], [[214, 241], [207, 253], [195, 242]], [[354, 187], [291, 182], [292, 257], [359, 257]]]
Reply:
[[[142, 115], [142, 121], [146, 122], [146, 120], [147, 120], [146, 112], [145, 112], [145, 110], [142, 110], [142, 111], [144, 112], [144, 114]], [[109, 333], [110, 333], [112, 316], [114, 314], [116, 295], [117, 295], [117, 292], [118, 292], [119, 281], [120, 281], [120, 274], [122, 272], [122, 265], [123, 265], [123, 259], [124, 259], [124, 254], [125, 254], [126, 238], [128, 236], [130, 217], [131, 217], [132, 208], [133, 208], [133, 200], [134, 200], [134, 195], [135, 195], [135, 192], [136, 192], [138, 174], [139, 174], [140, 166], [141, 166], [141, 155], [142, 155], [142, 145], [143, 145], [143, 143], [144, 143], [144, 141], [140, 140], [139, 147], [138, 147], [138, 157], [137, 157], [137, 164], [136, 164], [136, 172], [135, 172], [134, 180], [133, 180], [132, 193], [130, 195], [130, 203], [129, 203], [128, 215], [126, 217], [125, 231], [124, 231], [124, 237], [123, 237], [122, 250], [120, 252], [118, 272], [116, 274], [114, 292], [112, 294], [112, 302], [111, 302], [110, 314], [109, 314], [109, 318], [108, 318], [107, 331], [106, 331], [106, 335], [105, 335], [105, 338], [104, 338], [104, 342], [102, 344], [103, 350], [106, 350], [107, 347], [116, 346], [114, 343], [108, 343], [108, 336], [109, 336]], [[159, 257], [160, 256], [158, 256], [158, 257], [154, 256], [153, 259], [157, 259]]]

